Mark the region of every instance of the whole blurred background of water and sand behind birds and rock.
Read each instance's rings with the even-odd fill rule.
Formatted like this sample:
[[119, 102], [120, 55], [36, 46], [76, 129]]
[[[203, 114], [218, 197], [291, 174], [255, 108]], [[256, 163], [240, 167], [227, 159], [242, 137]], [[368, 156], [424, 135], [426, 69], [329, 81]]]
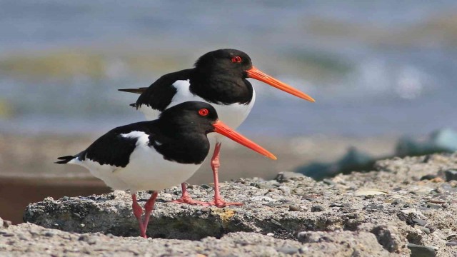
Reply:
[[[116, 89], [149, 86], [214, 49], [245, 51], [316, 99], [251, 80], [256, 105], [238, 131], [278, 161], [227, 141], [222, 181], [333, 172], [345, 158], [427, 148], [439, 129], [450, 128], [447, 142], [457, 128], [453, 0], [0, 1], [0, 35], [0, 216], [14, 222], [29, 201], [109, 191], [53, 161], [144, 120], [129, 107], [138, 95]], [[190, 182], [211, 181], [205, 164]]]

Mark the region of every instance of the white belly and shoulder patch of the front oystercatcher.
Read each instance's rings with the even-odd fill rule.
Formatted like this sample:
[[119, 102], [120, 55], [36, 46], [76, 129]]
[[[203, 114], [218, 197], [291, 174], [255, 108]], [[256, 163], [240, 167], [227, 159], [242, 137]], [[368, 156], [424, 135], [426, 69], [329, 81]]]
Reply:
[[[138, 138], [136, 148], [131, 153], [129, 164], [125, 168], [100, 165], [86, 158], [84, 161], [74, 160], [69, 163], [79, 164], [91, 171], [92, 175], [103, 180], [113, 189], [136, 192], [140, 190], [161, 191], [186, 181], [201, 164], [182, 164], [167, 161], [154, 148], [148, 146], [149, 136], [141, 131], [122, 134], [124, 137]], [[160, 142], [155, 141], [159, 144]]]

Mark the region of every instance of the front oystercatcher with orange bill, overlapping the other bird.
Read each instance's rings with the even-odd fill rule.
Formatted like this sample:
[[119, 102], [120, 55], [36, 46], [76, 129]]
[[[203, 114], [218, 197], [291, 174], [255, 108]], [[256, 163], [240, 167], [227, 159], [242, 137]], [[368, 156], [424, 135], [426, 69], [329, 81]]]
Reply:
[[[233, 131], [219, 120], [213, 106], [188, 101], [163, 111], [154, 121], [143, 121], [112, 129], [74, 156], [62, 156], [56, 163], [76, 164], [113, 189], [129, 190], [132, 209], [146, 238], [149, 216], [158, 191], [190, 178], [209, 152], [207, 134], [219, 133], [276, 159], [272, 153]], [[143, 209], [136, 201], [136, 191], [154, 191]]]

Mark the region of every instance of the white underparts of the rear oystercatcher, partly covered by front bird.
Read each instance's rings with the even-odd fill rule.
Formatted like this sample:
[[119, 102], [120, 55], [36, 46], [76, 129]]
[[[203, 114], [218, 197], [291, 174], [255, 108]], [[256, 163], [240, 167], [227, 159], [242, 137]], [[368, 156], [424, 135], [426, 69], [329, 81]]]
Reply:
[[[171, 104], [166, 106], [167, 109], [171, 106], [175, 106], [176, 104], [181, 104], [186, 101], [203, 101], [205, 103], [211, 104], [214, 109], [216, 109], [219, 119], [225, 124], [229, 125], [232, 129], [238, 128], [238, 126], [243, 123], [243, 121], [251, 112], [252, 106], [256, 101], [256, 91], [253, 91], [252, 100], [249, 104], [212, 104], [202, 99], [201, 97], [192, 94], [189, 91], [189, 81], [176, 81], [173, 85], [176, 87], [177, 92], [171, 100]], [[149, 106], [141, 106], [139, 109], [144, 113], [146, 119], [149, 121], [159, 118], [160, 111], [151, 109]]]

